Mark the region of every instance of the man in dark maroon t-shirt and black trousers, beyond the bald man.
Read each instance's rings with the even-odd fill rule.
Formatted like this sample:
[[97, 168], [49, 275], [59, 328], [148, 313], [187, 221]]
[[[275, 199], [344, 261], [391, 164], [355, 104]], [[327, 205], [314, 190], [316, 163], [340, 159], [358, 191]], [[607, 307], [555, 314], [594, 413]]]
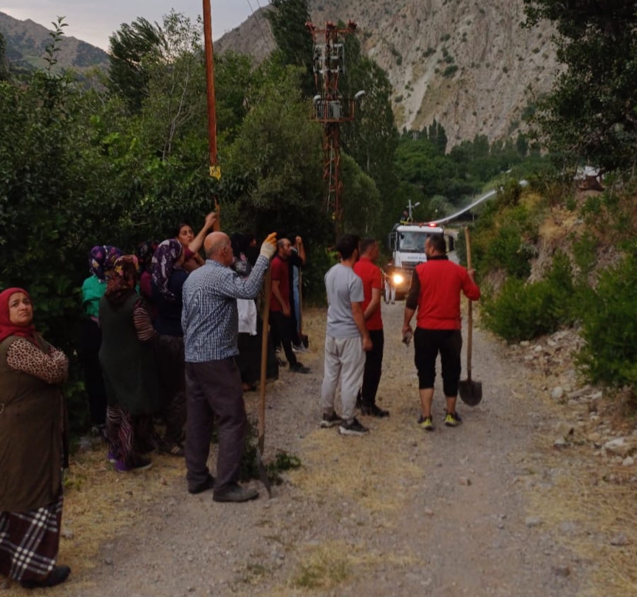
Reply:
[[288, 259], [292, 253], [292, 245], [287, 238], [276, 243], [277, 252], [272, 260], [272, 286], [270, 302], [270, 325], [274, 328], [275, 337], [280, 340], [285, 350], [285, 358], [294, 373], [309, 373], [310, 368], [296, 360], [292, 352], [291, 310], [290, 310], [290, 273]]

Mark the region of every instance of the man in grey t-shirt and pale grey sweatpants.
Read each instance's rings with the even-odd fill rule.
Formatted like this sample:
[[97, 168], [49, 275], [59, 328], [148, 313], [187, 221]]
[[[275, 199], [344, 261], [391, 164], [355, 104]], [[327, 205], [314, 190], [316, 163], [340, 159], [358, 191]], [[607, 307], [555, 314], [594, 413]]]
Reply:
[[[342, 435], [364, 435], [369, 429], [354, 416], [356, 396], [361, 389], [365, 368], [365, 351], [371, 350], [371, 340], [362, 310], [364, 300], [362, 280], [352, 267], [359, 258], [359, 237], [341, 236], [336, 250], [341, 263], [325, 276], [327, 290], [327, 331], [325, 338], [325, 372], [320, 405], [323, 411], [321, 427], [339, 425]], [[343, 413], [334, 411], [334, 397], [340, 378]]]

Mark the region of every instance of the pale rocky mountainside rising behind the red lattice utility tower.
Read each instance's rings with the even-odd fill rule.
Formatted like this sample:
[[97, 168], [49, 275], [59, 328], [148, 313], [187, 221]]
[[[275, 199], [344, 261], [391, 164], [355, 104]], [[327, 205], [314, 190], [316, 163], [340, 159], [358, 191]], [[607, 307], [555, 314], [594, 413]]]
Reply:
[[[419, 130], [435, 118], [450, 145], [476, 134], [506, 138], [559, 72], [550, 24], [522, 29], [522, 0], [310, 0], [317, 27], [351, 19], [394, 86], [396, 123]], [[260, 60], [275, 43], [264, 12], [215, 42]], [[346, 58], [347, 60], [347, 58]]]

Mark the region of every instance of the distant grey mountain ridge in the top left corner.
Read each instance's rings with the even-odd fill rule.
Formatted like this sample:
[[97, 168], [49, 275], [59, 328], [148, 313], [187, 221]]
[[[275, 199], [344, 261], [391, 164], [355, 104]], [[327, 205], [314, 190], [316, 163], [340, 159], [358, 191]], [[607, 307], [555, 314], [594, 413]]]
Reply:
[[[0, 12], [0, 33], [6, 43], [6, 58], [14, 66], [44, 68], [45, 48], [51, 43], [50, 29], [31, 19], [18, 20]], [[108, 67], [108, 54], [101, 48], [73, 37], [64, 37], [57, 52], [57, 68], [84, 71], [93, 66]]]

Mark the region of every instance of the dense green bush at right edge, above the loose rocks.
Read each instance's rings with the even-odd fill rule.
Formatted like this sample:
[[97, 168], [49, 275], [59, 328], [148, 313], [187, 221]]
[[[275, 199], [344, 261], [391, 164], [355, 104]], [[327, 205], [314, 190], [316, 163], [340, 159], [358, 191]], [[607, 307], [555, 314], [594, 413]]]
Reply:
[[603, 271], [585, 308], [578, 364], [593, 383], [637, 385], [637, 256]]

